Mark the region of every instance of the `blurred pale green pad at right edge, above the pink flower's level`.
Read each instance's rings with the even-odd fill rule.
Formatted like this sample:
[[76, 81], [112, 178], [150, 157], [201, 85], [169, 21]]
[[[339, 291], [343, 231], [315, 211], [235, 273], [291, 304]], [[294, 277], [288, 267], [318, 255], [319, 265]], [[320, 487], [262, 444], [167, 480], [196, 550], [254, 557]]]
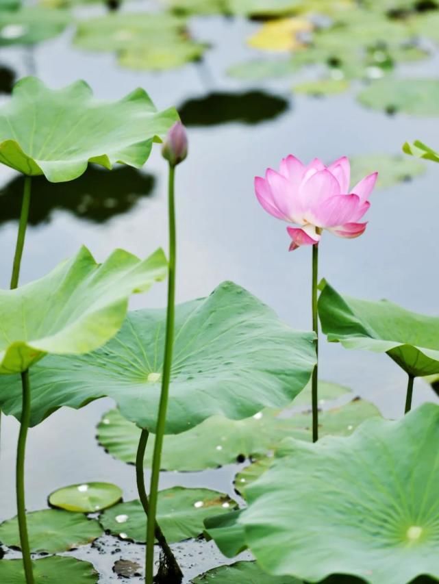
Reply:
[[358, 94], [360, 103], [389, 114], [439, 115], [438, 79], [379, 79]]

